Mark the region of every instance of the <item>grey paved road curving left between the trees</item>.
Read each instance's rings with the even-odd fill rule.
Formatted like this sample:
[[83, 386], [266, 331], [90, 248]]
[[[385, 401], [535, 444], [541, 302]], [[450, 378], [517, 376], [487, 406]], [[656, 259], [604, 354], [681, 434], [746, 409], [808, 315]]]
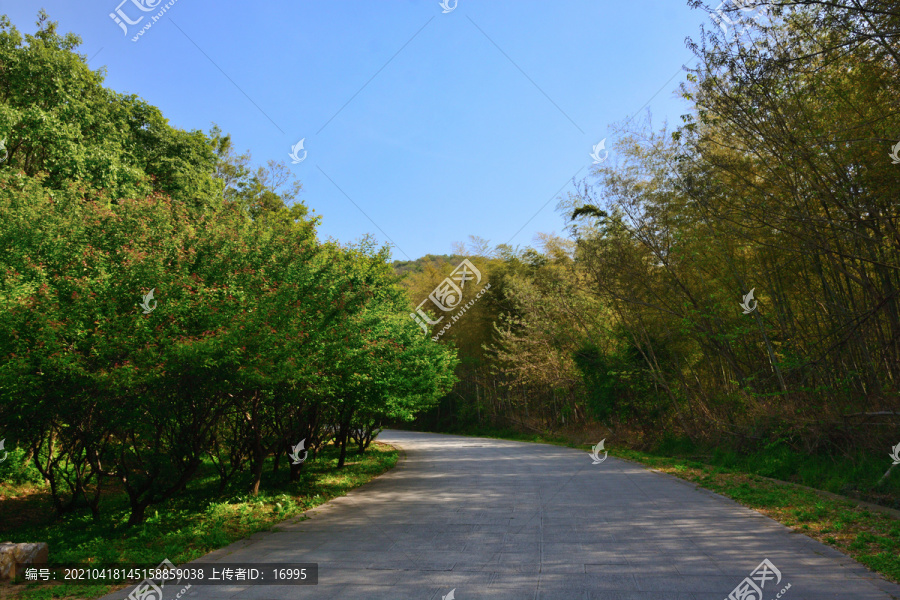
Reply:
[[757, 573], [762, 598], [737, 598], [790, 584], [780, 598], [900, 599], [837, 551], [633, 463], [483, 438], [379, 440], [405, 451], [397, 468], [202, 559], [316, 562], [318, 586], [195, 586], [181, 600], [727, 600], [764, 559], [780, 581]]

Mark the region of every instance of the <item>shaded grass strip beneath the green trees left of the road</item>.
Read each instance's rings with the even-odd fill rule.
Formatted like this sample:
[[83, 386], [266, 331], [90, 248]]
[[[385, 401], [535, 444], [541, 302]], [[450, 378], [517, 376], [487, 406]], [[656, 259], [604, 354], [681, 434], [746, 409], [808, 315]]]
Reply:
[[[286, 519], [342, 496], [391, 469], [397, 459], [397, 450], [375, 442], [362, 455], [351, 451], [344, 468], [338, 470], [337, 450], [329, 445], [307, 463], [299, 481], [284, 481], [284, 464], [278, 478], [267, 468], [256, 497], [238, 491], [246, 489], [245, 480], [235, 481], [219, 495], [217, 475], [207, 465], [184, 494], [150, 507], [146, 522], [132, 528], [124, 525], [128, 517], [124, 494], [104, 499], [100, 521], [94, 521], [90, 512], [53, 520], [45, 489], [0, 484], [0, 538], [47, 542], [54, 564], [157, 565], [168, 558], [180, 565], [254, 533], [270, 531]], [[117, 587], [4, 583], [0, 599], [97, 598]]]

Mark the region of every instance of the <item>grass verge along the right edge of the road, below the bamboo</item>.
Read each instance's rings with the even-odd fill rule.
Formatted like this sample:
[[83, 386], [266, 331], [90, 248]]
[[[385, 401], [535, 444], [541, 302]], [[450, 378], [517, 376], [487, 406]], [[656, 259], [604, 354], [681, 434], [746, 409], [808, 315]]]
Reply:
[[[462, 434], [580, 449], [591, 446], [564, 435], [522, 433], [512, 429], [480, 428]], [[671, 440], [652, 453], [615, 444], [607, 443], [606, 446], [610, 456], [639, 462], [722, 494], [798, 533], [828, 544], [886, 579], [900, 583], [900, 520], [870, 511], [852, 499], [831, 498], [802, 487], [832, 493], [856, 491], [866, 500], [896, 507], [898, 494], [892, 492], [898, 487], [897, 481], [877, 493], [874, 486], [864, 487], [859, 493], [860, 486], [850, 484], [863, 475], [868, 478], [873, 474], [880, 476], [890, 465], [889, 460], [885, 466], [864, 457], [853, 461], [855, 466], [847, 466], [836, 464], [833, 458], [792, 453], [777, 446], [743, 456], [713, 450], [703, 455], [701, 461], [696, 460], [700, 457], [696, 456], [695, 447]], [[679, 456], [686, 453], [694, 456]]]

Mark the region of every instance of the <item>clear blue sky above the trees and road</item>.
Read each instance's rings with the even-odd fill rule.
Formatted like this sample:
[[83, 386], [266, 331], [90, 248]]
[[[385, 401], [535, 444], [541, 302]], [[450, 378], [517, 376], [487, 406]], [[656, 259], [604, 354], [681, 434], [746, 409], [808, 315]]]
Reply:
[[438, 0], [175, 0], [132, 42], [166, 1], [126, 0], [144, 16], [128, 35], [109, 16], [121, 0], [0, 12], [32, 33], [45, 8], [108, 87], [179, 128], [215, 122], [255, 163], [290, 165], [305, 138], [291, 168], [322, 236], [389, 238], [400, 260], [469, 235], [562, 233], [557, 199], [589, 176], [594, 144], [612, 146], [611, 124], [645, 104], [655, 125], [680, 121], [685, 38], [711, 26], [685, 0], [458, 0], [446, 14]]

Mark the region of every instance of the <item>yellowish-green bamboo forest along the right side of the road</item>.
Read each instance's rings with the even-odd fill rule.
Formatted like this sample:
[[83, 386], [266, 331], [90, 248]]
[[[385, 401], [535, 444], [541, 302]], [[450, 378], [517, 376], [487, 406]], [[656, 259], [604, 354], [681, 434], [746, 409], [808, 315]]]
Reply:
[[764, 4], [688, 40], [682, 122], [619, 123], [565, 235], [395, 263], [414, 298], [463, 256], [492, 284], [420, 426], [874, 460], [851, 487], [876, 487], [900, 443], [900, 7]]

